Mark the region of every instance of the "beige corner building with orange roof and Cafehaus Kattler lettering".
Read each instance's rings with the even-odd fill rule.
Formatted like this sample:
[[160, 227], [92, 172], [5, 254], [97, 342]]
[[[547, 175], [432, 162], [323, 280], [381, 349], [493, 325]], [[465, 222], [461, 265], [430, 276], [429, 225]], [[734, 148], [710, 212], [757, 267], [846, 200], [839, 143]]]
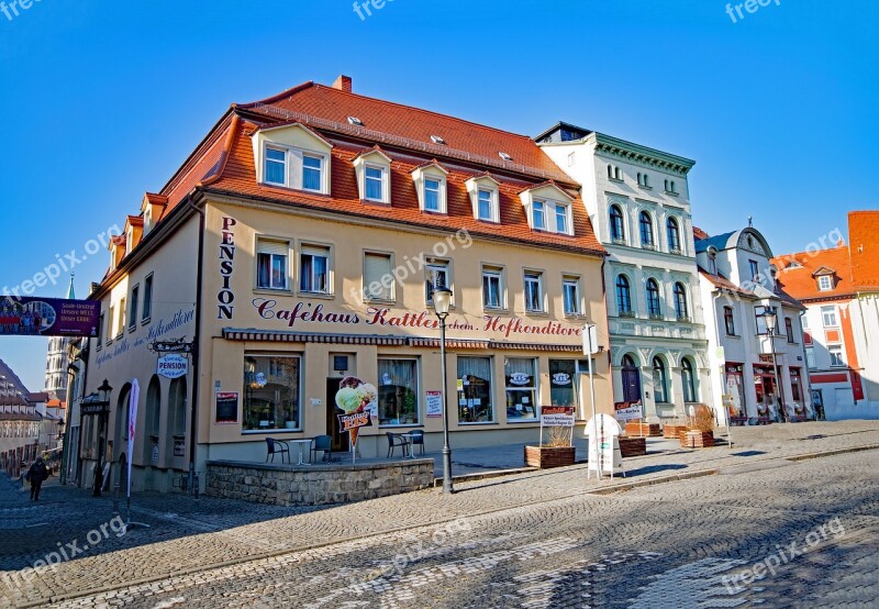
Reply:
[[[581, 329], [607, 328], [603, 256], [578, 185], [527, 136], [358, 96], [345, 77], [307, 82], [233, 104], [129, 217], [92, 295], [104, 334], [88, 391], [114, 387], [107, 440], [124, 446], [138, 379], [135, 488], [169, 489], [209, 453], [263, 462], [266, 438], [348, 450], [334, 401], [347, 376], [378, 392], [361, 456], [415, 429], [438, 451], [442, 387], [453, 446], [536, 441], [541, 406], [590, 411]], [[446, 379], [436, 286], [454, 292]], [[149, 350], [170, 339], [196, 345], [175, 379]], [[593, 366], [610, 411], [607, 356]]]

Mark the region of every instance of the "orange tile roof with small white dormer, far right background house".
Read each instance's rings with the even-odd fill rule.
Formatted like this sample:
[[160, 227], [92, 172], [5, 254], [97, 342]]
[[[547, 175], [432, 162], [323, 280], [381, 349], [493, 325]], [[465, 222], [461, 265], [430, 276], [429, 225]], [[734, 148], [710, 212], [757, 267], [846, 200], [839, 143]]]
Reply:
[[[776, 256], [771, 262], [779, 269], [777, 276], [779, 286], [798, 300], [831, 300], [855, 292], [852, 263], [846, 245], [817, 252], [786, 254]], [[821, 267], [827, 267], [834, 273], [832, 290], [822, 291], [817, 287], [814, 274]]]

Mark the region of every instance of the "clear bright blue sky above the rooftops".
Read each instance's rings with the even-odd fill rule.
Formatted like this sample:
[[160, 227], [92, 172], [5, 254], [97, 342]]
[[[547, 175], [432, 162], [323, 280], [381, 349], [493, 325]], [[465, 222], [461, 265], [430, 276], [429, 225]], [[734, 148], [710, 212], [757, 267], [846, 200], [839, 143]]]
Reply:
[[[693, 217], [711, 233], [753, 215], [785, 253], [845, 232], [847, 210], [879, 207], [879, 5], [772, 0], [736, 23], [725, 8], [393, 0], [361, 20], [349, 0], [37, 0], [0, 12], [0, 288], [137, 213], [231, 102], [338, 74], [356, 92], [509, 131], [565, 120], [693, 158]], [[80, 297], [108, 261], [78, 266]], [[65, 292], [60, 280], [38, 294]], [[45, 347], [4, 337], [0, 357], [38, 390]]]

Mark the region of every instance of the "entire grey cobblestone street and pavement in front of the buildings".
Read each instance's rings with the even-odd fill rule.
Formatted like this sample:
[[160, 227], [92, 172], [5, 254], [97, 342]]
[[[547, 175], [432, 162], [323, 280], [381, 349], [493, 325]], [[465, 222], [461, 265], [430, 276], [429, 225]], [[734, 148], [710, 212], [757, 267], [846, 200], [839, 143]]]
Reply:
[[[49, 486], [45, 502], [27, 505], [7, 483], [3, 601], [876, 606], [879, 452], [826, 453], [879, 445], [879, 424], [736, 431], [732, 451], [626, 459], [628, 477], [612, 483], [587, 481], [586, 467], [575, 466], [459, 484], [452, 497], [427, 490], [325, 509], [138, 496], [133, 520], [149, 528], [122, 536], [107, 498]], [[632, 488], [659, 480], [667, 481]], [[98, 534], [102, 523], [107, 533]], [[80, 555], [22, 577], [75, 541]], [[86, 541], [97, 543], [86, 550]], [[736, 578], [744, 569], [760, 578]]]

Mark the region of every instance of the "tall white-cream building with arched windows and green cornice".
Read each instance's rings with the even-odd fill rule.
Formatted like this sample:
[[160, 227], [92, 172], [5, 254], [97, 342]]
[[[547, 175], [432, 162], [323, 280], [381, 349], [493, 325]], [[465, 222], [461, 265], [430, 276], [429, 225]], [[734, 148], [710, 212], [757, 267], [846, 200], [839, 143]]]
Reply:
[[669, 420], [711, 398], [687, 176], [693, 160], [558, 123], [536, 137], [582, 185], [596, 234], [608, 251], [613, 391]]

